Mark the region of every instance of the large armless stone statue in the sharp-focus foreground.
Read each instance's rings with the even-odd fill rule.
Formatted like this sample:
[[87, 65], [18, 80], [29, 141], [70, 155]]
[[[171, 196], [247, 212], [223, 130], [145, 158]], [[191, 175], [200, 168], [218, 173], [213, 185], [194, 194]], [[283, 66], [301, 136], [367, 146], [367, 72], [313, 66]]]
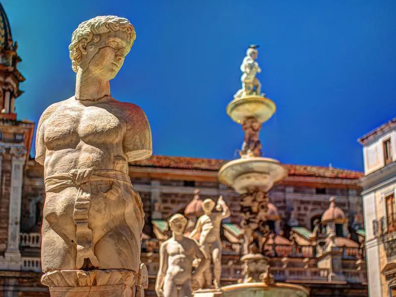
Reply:
[[[69, 46], [75, 96], [50, 105], [38, 124], [36, 160], [45, 164], [46, 187], [42, 281], [51, 296], [63, 290], [52, 287], [121, 283], [127, 294], [140, 268], [144, 212], [128, 162], [151, 155], [151, 131], [143, 110], [113, 99], [109, 86], [135, 38], [125, 18], [81, 23]], [[122, 296], [115, 292], [108, 296]]]

